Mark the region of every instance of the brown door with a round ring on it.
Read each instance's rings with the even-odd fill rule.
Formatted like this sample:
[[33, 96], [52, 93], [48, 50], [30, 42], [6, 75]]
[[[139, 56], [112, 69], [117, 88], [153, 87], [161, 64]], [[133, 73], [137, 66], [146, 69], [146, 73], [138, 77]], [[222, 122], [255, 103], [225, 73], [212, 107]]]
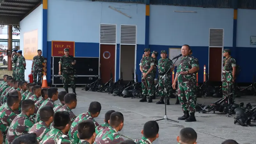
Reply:
[[115, 81], [116, 45], [100, 44], [100, 75], [103, 83], [110, 79], [110, 68]]

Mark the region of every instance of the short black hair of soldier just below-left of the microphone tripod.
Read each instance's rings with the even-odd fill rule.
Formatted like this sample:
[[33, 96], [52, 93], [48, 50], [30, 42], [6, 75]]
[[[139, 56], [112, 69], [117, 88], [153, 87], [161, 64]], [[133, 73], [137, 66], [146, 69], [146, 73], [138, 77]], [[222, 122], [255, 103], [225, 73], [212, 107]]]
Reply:
[[156, 121], [148, 121], [144, 124], [143, 135], [146, 138], [154, 138], [159, 131], [159, 125]]

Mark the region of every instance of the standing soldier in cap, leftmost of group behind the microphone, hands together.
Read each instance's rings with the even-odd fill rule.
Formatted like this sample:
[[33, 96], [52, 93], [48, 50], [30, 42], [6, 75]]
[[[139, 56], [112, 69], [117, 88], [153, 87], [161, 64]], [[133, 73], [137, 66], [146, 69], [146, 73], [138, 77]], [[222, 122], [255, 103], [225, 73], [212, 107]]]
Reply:
[[153, 86], [154, 86], [154, 72], [153, 68], [155, 60], [149, 56], [150, 49], [144, 49], [145, 57], [140, 60], [140, 71], [142, 73], [141, 86], [142, 86], [142, 99], [140, 102], [147, 101], [152, 102], [153, 97]]

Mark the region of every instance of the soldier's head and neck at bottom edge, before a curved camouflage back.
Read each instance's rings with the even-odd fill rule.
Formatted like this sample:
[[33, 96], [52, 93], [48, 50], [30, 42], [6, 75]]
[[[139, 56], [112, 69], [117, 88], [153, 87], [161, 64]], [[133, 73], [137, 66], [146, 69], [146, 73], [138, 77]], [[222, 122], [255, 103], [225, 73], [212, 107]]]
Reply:
[[92, 144], [95, 140], [95, 125], [92, 120], [85, 120], [78, 124], [77, 137], [81, 142], [79, 144]]

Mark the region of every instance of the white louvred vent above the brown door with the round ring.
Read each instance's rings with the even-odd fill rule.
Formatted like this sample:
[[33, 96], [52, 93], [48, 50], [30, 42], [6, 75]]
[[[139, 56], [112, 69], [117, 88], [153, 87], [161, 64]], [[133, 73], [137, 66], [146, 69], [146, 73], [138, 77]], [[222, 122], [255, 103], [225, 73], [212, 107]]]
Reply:
[[100, 24], [100, 43], [116, 43], [116, 25]]

